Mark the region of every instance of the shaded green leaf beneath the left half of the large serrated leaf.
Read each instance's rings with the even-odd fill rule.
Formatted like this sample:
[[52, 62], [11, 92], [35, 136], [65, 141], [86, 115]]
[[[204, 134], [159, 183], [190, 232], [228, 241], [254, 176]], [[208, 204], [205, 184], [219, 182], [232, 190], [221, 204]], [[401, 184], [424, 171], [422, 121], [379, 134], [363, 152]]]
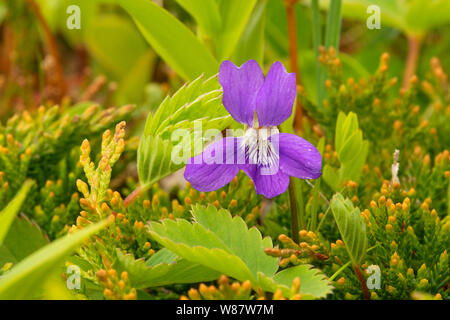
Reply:
[[[156, 259], [161, 261], [152, 264], [151, 261], [145, 262], [143, 259], [135, 260], [132, 254], [123, 254], [117, 249], [117, 267], [128, 272], [130, 281], [136, 289], [174, 283], [207, 282], [220, 277], [217, 271], [181, 259], [167, 249], [158, 251], [156, 255], [159, 255]], [[164, 257], [161, 257], [162, 255]]]

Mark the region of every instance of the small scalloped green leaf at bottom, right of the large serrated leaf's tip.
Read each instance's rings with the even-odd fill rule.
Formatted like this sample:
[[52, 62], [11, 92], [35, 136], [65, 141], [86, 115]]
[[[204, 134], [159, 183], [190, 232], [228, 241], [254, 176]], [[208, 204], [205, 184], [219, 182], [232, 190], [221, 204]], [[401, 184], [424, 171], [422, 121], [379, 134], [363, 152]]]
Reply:
[[302, 299], [325, 298], [332, 292], [332, 286], [325, 275], [310, 265], [299, 265], [278, 272], [272, 279], [260, 274], [262, 289], [274, 292], [280, 289], [287, 298], [292, 296], [291, 287], [294, 279], [300, 279]]

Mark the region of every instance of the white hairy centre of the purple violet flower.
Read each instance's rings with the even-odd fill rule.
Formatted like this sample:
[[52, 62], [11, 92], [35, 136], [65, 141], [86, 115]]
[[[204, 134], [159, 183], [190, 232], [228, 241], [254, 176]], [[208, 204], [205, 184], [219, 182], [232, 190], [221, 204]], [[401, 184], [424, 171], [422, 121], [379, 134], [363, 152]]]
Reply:
[[269, 137], [278, 133], [277, 127], [248, 128], [242, 139], [241, 148], [250, 164], [270, 167], [278, 161], [278, 150]]

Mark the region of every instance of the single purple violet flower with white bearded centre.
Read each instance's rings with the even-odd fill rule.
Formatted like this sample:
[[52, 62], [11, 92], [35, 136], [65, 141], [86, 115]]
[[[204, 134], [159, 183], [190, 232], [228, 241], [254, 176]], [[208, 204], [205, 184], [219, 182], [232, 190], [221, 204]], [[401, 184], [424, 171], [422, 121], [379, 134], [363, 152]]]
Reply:
[[246, 131], [242, 137], [211, 143], [189, 161], [184, 177], [195, 189], [217, 190], [243, 170], [253, 180], [257, 194], [273, 198], [286, 191], [289, 176], [320, 177], [319, 151], [305, 139], [277, 129], [292, 113], [297, 92], [295, 73], [287, 73], [275, 62], [264, 79], [254, 60], [240, 68], [224, 61], [219, 82], [225, 108]]

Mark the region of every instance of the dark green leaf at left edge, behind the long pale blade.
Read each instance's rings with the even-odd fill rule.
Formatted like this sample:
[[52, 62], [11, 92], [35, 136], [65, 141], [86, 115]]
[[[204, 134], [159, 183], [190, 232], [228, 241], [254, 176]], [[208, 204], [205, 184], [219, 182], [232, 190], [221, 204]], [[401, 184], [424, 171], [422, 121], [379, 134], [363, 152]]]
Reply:
[[0, 246], [0, 266], [7, 262], [17, 264], [46, 244], [48, 238], [35, 223], [24, 215], [18, 217]]

